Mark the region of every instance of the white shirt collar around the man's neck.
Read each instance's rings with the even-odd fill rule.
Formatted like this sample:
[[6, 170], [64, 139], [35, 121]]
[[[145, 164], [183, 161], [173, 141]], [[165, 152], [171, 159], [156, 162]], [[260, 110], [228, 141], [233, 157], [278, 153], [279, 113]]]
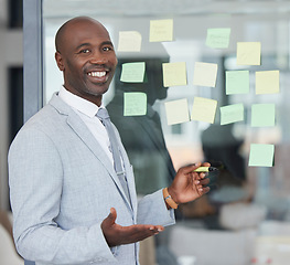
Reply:
[[68, 92], [64, 86], [61, 86], [58, 96], [67, 105], [75, 108], [76, 110], [87, 115], [90, 118], [93, 118], [97, 114], [97, 112], [100, 107], [104, 107], [103, 104], [100, 107], [98, 107], [94, 103], [92, 103], [87, 99], [84, 99], [84, 98]]

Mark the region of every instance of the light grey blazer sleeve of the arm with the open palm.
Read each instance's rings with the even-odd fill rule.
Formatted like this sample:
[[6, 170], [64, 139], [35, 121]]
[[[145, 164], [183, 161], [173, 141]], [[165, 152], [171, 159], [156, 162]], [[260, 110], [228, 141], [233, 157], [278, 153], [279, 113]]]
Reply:
[[24, 129], [9, 151], [14, 241], [26, 259], [53, 264], [115, 262], [100, 223], [65, 231], [54, 221], [62, 198], [62, 158], [41, 129]]

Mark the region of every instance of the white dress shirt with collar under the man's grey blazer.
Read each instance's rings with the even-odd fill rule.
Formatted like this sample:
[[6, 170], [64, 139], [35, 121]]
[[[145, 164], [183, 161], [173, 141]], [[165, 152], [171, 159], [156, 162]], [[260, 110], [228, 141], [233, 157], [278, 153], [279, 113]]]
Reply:
[[105, 108], [105, 106], [101, 105], [100, 107], [98, 107], [94, 103], [88, 102], [68, 92], [64, 86], [61, 87], [58, 96], [67, 105], [69, 105], [76, 112], [76, 114], [82, 118], [82, 120], [88, 127], [90, 132], [94, 135], [94, 137], [99, 142], [104, 151], [109, 157], [111, 163], [114, 165], [112, 153], [109, 150], [110, 141], [109, 141], [108, 132], [105, 126], [99, 120], [99, 118], [96, 116], [98, 109], [101, 107]]

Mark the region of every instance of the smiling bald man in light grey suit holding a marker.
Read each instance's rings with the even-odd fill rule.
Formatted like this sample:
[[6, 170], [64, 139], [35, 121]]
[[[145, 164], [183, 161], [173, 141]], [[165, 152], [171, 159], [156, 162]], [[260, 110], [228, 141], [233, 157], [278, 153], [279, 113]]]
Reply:
[[168, 188], [171, 197], [159, 190], [137, 203], [118, 138], [126, 194], [96, 117], [117, 65], [109, 34], [80, 17], [61, 26], [55, 44], [64, 86], [23, 126], [9, 152], [17, 248], [37, 265], [138, 264], [137, 242], [173, 224], [171, 205], [206, 193], [208, 179], [193, 172], [201, 163], [182, 168]]

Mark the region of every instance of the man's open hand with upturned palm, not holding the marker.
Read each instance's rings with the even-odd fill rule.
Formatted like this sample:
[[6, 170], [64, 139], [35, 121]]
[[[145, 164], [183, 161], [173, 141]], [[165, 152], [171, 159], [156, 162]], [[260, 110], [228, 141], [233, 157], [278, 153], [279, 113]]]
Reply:
[[116, 209], [111, 208], [109, 215], [101, 222], [100, 225], [105, 239], [110, 247], [136, 243], [149, 236], [155, 235], [164, 230], [162, 225], [150, 224], [135, 224], [130, 226], [121, 226], [115, 222], [116, 219]]

